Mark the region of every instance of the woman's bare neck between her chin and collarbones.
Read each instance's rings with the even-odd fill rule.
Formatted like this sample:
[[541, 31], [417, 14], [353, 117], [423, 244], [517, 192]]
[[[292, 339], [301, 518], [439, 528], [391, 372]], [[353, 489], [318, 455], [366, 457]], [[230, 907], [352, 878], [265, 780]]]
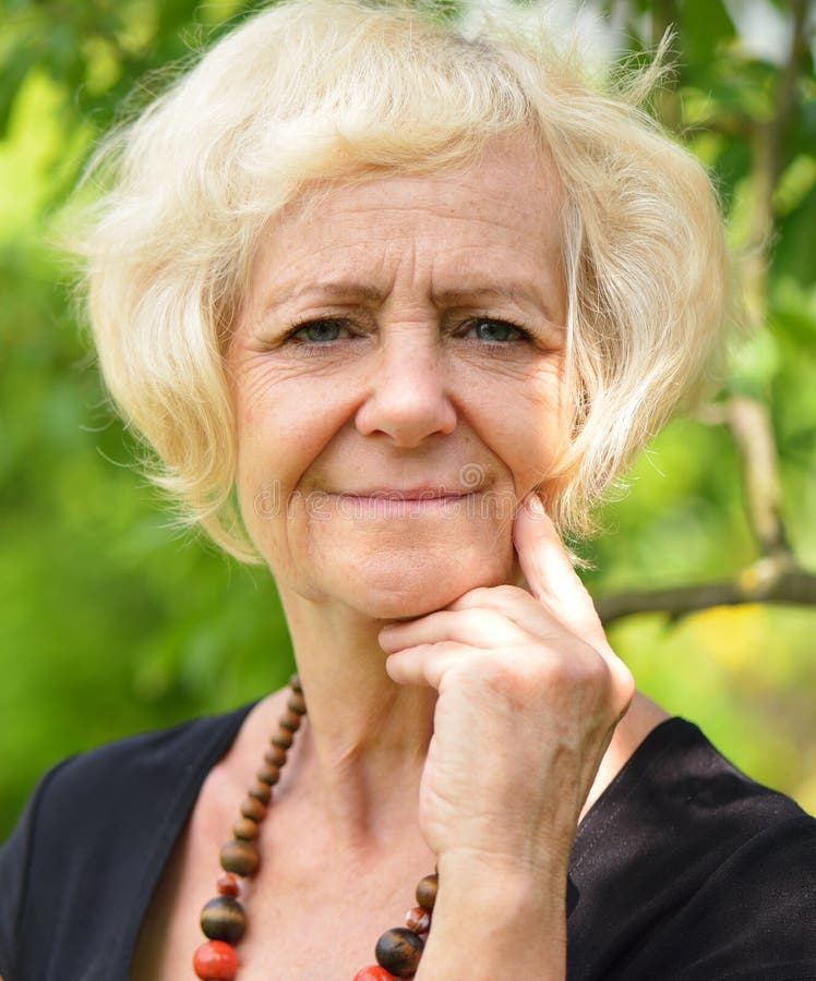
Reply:
[[395, 685], [377, 634], [385, 621], [283, 595], [309, 705], [304, 785], [344, 836], [384, 840], [416, 822], [436, 692]]

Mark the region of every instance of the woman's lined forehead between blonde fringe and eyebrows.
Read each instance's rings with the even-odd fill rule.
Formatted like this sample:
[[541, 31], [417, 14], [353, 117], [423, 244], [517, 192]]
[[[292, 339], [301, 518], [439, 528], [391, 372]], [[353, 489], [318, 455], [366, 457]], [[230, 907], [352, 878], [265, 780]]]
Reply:
[[361, 272], [372, 290], [387, 289], [406, 264], [448, 292], [511, 274], [552, 287], [561, 280], [561, 203], [553, 165], [524, 137], [495, 141], [456, 169], [314, 185], [269, 222], [253, 292]]

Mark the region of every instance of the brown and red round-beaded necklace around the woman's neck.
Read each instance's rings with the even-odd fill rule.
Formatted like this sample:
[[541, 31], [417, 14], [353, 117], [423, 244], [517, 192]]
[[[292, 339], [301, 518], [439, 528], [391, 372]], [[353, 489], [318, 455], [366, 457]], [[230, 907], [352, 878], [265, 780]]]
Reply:
[[[218, 895], [201, 911], [201, 929], [207, 941], [193, 955], [193, 970], [202, 981], [233, 981], [238, 973], [236, 944], [247, 929], [247, 912], [238, 899], [240, 880], [254, 875], [257, 870], [260, 825], [266, 816], [272, 788], [280, 778], [280, 768], [286, 763], [295, 734], [307, 714], [303, 689], [297, 675], [289, 679], [289, 688], [286, 712], [278, 720], [278, 730], [264, 753], [263, 766], [241, 804], [241, 816], [232, 828], [233, 838], [221, 848], [224, 874], [216, 882]], [[385, 931], [374, 949], [377, 962], [359, 970], [353, 981], [395, 981], [396, 978], [413, 977], [424, 949], [424, 937], [431, 929], [437, 882], [435, 873], [420, 881], [417, 886], [419, 905], [406, 913], [406, 925]]]

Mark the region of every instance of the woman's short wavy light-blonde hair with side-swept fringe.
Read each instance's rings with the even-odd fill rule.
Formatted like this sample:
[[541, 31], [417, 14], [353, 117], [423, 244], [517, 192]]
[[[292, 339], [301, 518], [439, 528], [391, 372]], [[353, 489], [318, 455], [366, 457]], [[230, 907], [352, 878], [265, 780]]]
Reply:
[[187, 520], [257, 560], [225, 355], [271, 217], [315, 180], [451, 169], [527, 133], [563, 198], [572, 438], [549, 508], [590, 533], [634, 453], [717, 375], [725, 336], [716, 193], [641, 108], [659, 76], [652, 62], [598, 83], [529, 9], [455, 22], [441, 0], [286, 0], [113, 132], [79, 237], [88, 316], [108, 389]]

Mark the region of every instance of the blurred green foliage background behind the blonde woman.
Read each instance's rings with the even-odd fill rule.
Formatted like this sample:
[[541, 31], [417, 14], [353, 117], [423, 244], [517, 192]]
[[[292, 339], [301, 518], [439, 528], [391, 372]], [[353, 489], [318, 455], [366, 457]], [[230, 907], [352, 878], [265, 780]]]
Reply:
[[[764, 324], [727, 396], [768, 408], [788, 536], [797, 561], [816, 569], [814, 12], [796, 0], [598, 7], [607, 28], [583, 19], [601, 47], [640, 52], [675, 24], [676, 73], [655, 108], [715, 171], [734, 244], [752, 251], [749, 313]], [[568, 20], [575, 5], [556, 8]], [[70, 272], [48, 245], [122, 99], [155, 90], [155, 69], [249, 8], [5, 0], [1, 9], [0, 836], [49, 763], [260, 697], [291, 667], [268, 576], [180, 536], [140, 475], [77, 326]], [[603, 524], [586, 549], [598, 597], [733, 580], [759, 555], [740, 455], [728, 426], [710, 421], [665, 429]], [[637, 615], [611, 627], [647, 693], [816, 812], [814, 637], [812, 606]]]

